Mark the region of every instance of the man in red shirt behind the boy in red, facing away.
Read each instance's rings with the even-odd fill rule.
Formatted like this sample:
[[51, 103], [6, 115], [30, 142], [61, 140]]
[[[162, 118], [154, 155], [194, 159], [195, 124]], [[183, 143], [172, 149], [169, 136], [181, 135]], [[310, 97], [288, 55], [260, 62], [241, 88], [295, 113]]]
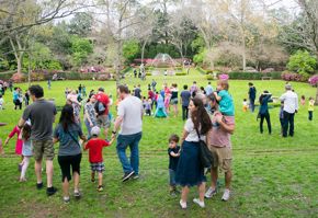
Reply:
[[99, 92], [96, 94], [96, 103], [95, 111], [98, 113], [98, 126], [102, 129], [104, 128], [105, 137], [107, 138], [109, 128], [111, 127], [111, 121], [109, 119], [110, 113], [110, 97], [104, 93], [103, 88], [99, 88]]

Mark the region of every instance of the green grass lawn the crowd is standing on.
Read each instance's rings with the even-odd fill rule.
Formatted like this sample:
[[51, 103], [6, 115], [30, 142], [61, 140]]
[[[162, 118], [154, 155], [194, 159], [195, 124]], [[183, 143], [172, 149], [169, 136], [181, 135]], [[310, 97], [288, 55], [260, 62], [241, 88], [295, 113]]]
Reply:
[[[163, 82], [177, 82], [191, 85], [195, 80], [205, 87], [207, 80], [196, 71], [185, 77], [148, 77], [147, 81], [126, 78], [123, 83], [130, 87], [141, 84], [146, 92], [147, 84], [155, 78], [160, 88]], [[253, 81], [258, 93], [269, 90], [275, 96], [284, 92], [284, 81]], [[115, 95], [115, 82], [101, 81], [58, 81], [45, 96], [54, 97], [57, 105], [65, 102], [66, 87], [77, 88], [86, 84], [87, 92], [104, 87], [107, 93]], [[213, 85], [215, 87], [215, 81]], [[59, 192], [47, 197], [44, 191], [36, 191], [33, 165], [27, 171], [29, 182], [19, 183], [16, 170], [19, 157], [14, 154], [15, 140], [4, 148], [0, 157], [0, 217], [317, 217], [318, 214], [318, 114], [314, 121], [307, 121], [307, 105], [302, 106], [295, 117], [294, 138], [280, 136], [279, 108], [270, 111], [273, 134], [259, 133], [257, 113], [243, 113], [242, 100], [247, 97], [248, 81], [230, 81], [230, 93], [235, 100], [237, 129], [232, 136], [234, 181], [232, 197], [229, 202], [220, 200], [224, 181], [219, 181], [220, 193], [206, 200], [206, 208], [192, 204], [196, 190], [189, 196], [189, 209], [181, 210], [179, 198], [171, 197], [168, 190], [167, 140], [170, 134], [182, 131], [181, 114], [178, 118], [144, 118], [144, 137], [140, 142], [140, 179], [122, 183], [122, 169], [115, 153], [115, 145], [104, 149], [106, 172], [105, 190], [95, 191], [96, 184], [90, 182], [88, 154], [81, 163], [82, 199], [71, 198], [69, 205], [61, 200], [60, 172], [55, 160], [54, 184]], [[307, 83], [292, 83], [298, 95], [315, 96], [316, 89]], [[26, 84], [21, 84], [26, 89]], [[0, 137], [4, 140], [18, 123], [21, 111], [13, 111], [10, 92], [5, 95], [7, 110], [0, 111], [0, 122], [8, 123], [0, 127]], [[316, 108], [317, 111], [317, 108]], [[114, 107], [112, 108], [115, 113]], [[58, 116], [59, 118], [59, 116]], [[57, 118], [57, 119], [58, 119]], [[86, 130], [86, 129], [84, 129]], [[33, 163], [34, 161], [32, 161]], [[45, 180], [45, 175], [44, 175]], [[208, 179], [209, 181], [209, 179]]]

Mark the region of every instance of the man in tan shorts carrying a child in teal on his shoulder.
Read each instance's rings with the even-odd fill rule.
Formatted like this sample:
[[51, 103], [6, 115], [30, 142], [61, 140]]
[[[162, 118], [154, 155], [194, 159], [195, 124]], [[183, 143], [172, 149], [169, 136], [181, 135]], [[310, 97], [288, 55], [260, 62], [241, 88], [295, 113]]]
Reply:
[[207, 145], [213, 154], [214, 162], [211, 168], [211, 187], [205, 193], [206, 198], [213, 197], [217, 193], [218, 168], [225, 173], [225, 191], [222, 200], [230, 197], [231, 183], [231, 141], [230, 135], [235, 130], [234, 116], [223, 116], [218, 111], [218, 102], [214, 94], [207, 96], [212, 111], [212, 129], [207, 136]]

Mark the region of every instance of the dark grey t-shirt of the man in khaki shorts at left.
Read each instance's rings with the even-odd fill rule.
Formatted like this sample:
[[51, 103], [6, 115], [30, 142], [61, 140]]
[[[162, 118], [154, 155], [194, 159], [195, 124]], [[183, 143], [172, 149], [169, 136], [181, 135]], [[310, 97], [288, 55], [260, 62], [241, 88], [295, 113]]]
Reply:
[[53, 122], [56, 107], [46, 100], [36, 100], [29, 105], [22, 115], [24, 121], [31, 119], [31, 140], [52, 139]]

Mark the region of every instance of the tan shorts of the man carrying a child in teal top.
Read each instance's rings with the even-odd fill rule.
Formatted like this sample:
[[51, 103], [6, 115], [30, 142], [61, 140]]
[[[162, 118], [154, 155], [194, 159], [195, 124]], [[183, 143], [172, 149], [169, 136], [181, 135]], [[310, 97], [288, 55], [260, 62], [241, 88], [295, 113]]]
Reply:
[[213, 167], [219, 168], [220, 171], [228, 172], [231, 170], [231, 148], [209, 146], [213, 154]]

